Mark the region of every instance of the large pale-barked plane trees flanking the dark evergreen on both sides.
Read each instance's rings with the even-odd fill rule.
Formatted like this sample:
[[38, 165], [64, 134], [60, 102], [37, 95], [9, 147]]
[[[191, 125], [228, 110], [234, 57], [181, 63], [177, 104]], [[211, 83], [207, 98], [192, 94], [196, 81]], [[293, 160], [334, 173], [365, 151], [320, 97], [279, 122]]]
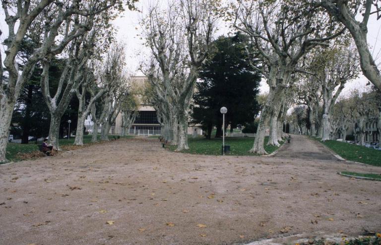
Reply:
[[[279, 145], [283, 120], [299, 81], [304, 80], [303, 86], [311, 89], [304, 101], [311, 111], [312, 131], [319, 120], [323, 139], [329, 138], [335, 100], [344, 84], [357, 76], [358, 65], [381, 88], [380, 71], [366, 37], [370, 16], [380, 14], [379, 1], [245, 0], [222, 7], [219, 1], [181, 0], [164, 8], [153, 5], [141, 22], [152, 51], [146, 74], [155, 95], [153, 104], [166, 129], [164, 135], [178, 144], [178, 150], [188, 148], [185, 132], [190, 99], [201, 64], [210, 53], [221, 9], [233, 27], [247, 36], [246, 61], [270, 87], [253, 153], [266, 153], [263, 143], [268, 127], [268, 144]], [[360, 22], [355, 20], [359, 13], [363, 17]], [[321, 91], [320, 98], [314, 98], [314, 89]], [[320, 99], [324, 112], [318, 119], [316, 101]]]

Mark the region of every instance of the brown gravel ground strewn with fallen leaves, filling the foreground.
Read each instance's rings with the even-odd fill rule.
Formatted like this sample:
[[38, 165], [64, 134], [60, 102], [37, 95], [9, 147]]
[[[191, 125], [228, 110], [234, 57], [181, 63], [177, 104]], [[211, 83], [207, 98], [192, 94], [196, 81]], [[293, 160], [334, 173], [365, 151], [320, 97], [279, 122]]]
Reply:
[[0, 165], [0, 244], [244, 244], [380, 231], [381, 182], [337, 172], [381, 168], [292, 137], [273, 157], [174, 153], [135, 138]]

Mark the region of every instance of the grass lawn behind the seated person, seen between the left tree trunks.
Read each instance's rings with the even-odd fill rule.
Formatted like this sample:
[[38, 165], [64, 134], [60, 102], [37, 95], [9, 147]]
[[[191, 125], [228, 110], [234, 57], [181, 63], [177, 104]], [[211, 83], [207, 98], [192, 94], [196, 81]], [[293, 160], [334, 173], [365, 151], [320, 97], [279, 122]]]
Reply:
[[[114, 135], [110, 135], [110, 139], [113, 138]], [[91, 142], [92, 135], [83, 135], [83, 144], [88, 144]], [[124, 136], [122, 138], [130, 138], [131, 135]], [[75, 137], [71, 137], [70, 139], [60, 139], [60, 145], [70, 145], [74, 143]], [[38, 151], [39, 145], [42, 144], [41, 142], [38, 142], [36, 144], [35, 142], [30, 142], [29, 144], [19, 144], [19, 143], [8, 143], [6, 146], [6, 154], [5, 157], [9, 161], [16, 162], [20, 161], [19, 153], [31, 153], [34, 151]]]

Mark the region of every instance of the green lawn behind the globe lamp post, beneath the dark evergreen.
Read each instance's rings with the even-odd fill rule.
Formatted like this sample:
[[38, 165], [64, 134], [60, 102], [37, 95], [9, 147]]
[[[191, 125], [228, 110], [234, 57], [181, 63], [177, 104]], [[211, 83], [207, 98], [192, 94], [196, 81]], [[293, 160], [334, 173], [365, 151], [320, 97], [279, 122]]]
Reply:
[[[266, 145], [268, 137], [264, 139], [264, 149], [268, 154], [274, 152], [278, 147]], [[252, 137], [225, 137], [225, 145], [230, 145], [230, 153], [227, 155], [235, 156], [254, 156], [256, 154], [248, 151], [253, 147], [254, 138]], [[192, 138], [189, 137], [189, 150], [184, 153], [198, 155], [221, 155], [222, 138], [205, 139], [204, 137]], [[176, 146], [169, 146], [169, 149], [174, 151]]]

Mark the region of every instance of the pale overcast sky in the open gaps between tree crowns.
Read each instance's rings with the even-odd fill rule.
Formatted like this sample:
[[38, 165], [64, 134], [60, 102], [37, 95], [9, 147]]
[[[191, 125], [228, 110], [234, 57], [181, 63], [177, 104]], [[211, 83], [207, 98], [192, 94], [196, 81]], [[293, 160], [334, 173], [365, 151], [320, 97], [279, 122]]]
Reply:
[[[139, 62], [147, 59], [149, 55], [149, 49], [143, 46], [143, 40], [140, 39], [140, 26], [139, 19], [145, 14], [145, 9], [149, 2], [152, 0], [140, 0], [137, 3], [137, 7], [141, 12], [137, 11], [126, 11], [122, 17], [117, 18], [114, 21], [115, 26], [117, 27], [117, 39], [123, 41], [127, 48], [127, 65], [129, 66], [130, 71], [136, 75], [142, 75], [141, 72], [137, 71]], [[165, 2], [161, 0], [162, 2]], [[221, 27], [220, 31], [216, 36], [226, 35], [228, 32], [232, 31], [229, 28], [225, 27], [224, 22], [220, 22]], [[373, 57], [378, 57], [376, 63], [381, 63], [381, 20], [377, 21], [376, 16], [372, 16], [368, 23], [368, 42], [374, 52]], [[377, 56], [378, 55], [378, 56]], [[381, 65], [379, 65], [380, 67]], [[360, 72], [361, 73], [361, 72]], [[360, 77], [347, 83], [345, 89], [342, 92], [342, 96], [346, 96], [353, 89], [358, 89], [362, 92], [365, 92], [370, 86], [366, 86], [367, 79], [360, 74]], [[260, 84], [261, 93], [268, 91], [268, 86], [265, 80], [262, 79]]]

